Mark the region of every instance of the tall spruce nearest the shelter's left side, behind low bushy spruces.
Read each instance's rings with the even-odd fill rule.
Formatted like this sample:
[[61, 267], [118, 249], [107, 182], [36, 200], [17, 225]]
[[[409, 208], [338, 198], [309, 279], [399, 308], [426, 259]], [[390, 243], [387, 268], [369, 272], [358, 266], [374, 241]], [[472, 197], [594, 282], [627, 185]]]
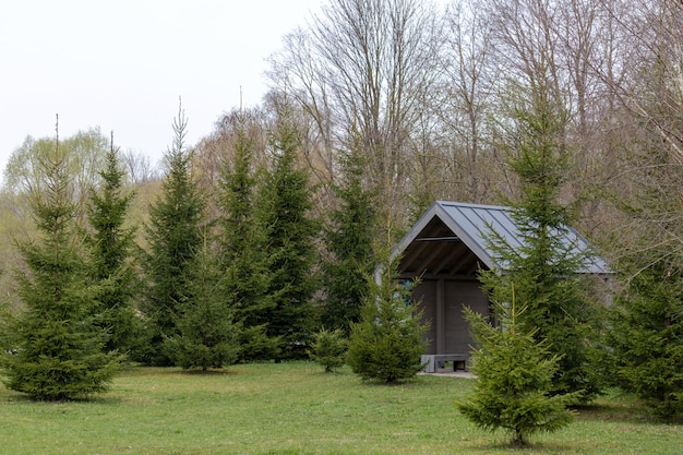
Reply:
[[340, 157], [342, 183], [334, 188], [339, 207], [329, 215], [324, 232], [327, 258], [321, 266], [322, 323], [342, 328], [360, 321], [369, 294], [367, 277], [378, 264], [373, 251], [378, 229], [374, 194], [363, 188], [364, 158], [356, 152]]

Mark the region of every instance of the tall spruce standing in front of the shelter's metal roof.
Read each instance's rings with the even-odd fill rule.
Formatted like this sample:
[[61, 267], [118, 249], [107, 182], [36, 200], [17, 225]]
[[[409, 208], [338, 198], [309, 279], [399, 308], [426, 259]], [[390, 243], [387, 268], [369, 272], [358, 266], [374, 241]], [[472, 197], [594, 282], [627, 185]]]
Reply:
[[480, 277], [492, 301], [510, 302], [515, 284], [519, 300], [528, 306], [518, 326], [527, 333], [536, 331], [535, 339], [546, 340], [550, 354], [560, 359], [553, 391], [583, 391], [589, 400], [599, 390], [588, 343], [598, 318], [596, 303], [588, 298], [590, 283], [579, 274], [587, 258], [563, 241], [572, 220], [559, 202], [567, 170], [564, 121], [543, 91], [529, 104], [519, 103], [513, 111], [516, 140], [508, 165], [520, 183], [512, 217], [522, 246], [513, 247], [492, 234], [489, 240], [503, 271], [482, 272]]

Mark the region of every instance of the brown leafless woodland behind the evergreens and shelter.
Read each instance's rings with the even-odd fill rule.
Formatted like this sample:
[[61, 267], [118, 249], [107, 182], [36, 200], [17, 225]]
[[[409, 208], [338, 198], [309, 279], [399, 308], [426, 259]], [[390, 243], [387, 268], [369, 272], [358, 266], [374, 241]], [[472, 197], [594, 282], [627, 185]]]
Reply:
[[[323, 224], [340, 206], [347, 156], [362, 158], [358, 178], [375, 197], [384, 247], [434, 200], [515, 205], [519, 181], [508, 155], [525, 131], [513, 112], [542, 87], [561, 124], [556, 153], [567, 166], [560, 203], [574, 226], [621, 272], [624, 287], [648, 272], [679, 289], [681, 33], [683, 5], [666, 0], [464, 0], [445, 10], [417, 0], [332, 1], [284, 37], [263, 103], [233, 108], [191, 147], [205, 217], [219, 212], [220, 175], [243, 134], [250, 166], [275, 167], [273, 137], [284, 118], [299, 137], [310, 217]], [[75, 157], [70, 172], [84, 227], [110, 145], [97, 129], [61, 145]], [[52, 139], [28, 137], [4, 170], [0, 289], [14, 306], [11, 271], [24, 267], [15, 241], [35, 232], [25, 196], [40, 187], [36, 159], [52, 146]], [[144, 226], [165, 175], [144, 154], [122, 158], [134, 190], [127, 223]], [[315, 247], [331, 254], [323, 241]]]

